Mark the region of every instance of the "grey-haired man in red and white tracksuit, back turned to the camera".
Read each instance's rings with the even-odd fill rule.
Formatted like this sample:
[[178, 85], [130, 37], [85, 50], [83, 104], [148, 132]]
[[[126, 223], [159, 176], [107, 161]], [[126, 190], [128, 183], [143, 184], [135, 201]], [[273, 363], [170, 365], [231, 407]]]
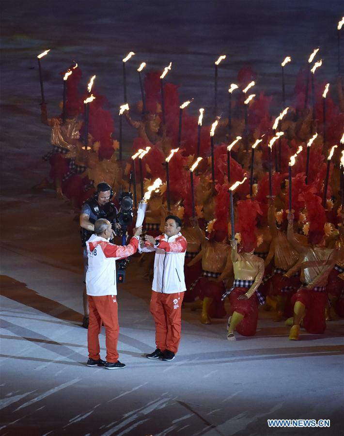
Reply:
[[[125, 364], [118, 360], [119, 335], [117, 314], [116, 260], [136, 253], [142, 227], [133, 230], [129, 245], [109, 243], [113, 232], [107, 219], [97, 219], [94, 234], [86, 242], [88, 270], [86, 292], [90, 310], [87, 343], [87, 366], [105, 366], [106, 369], [122, 369]], [[104, 323], [106, 331], [106, 362], [100, 358], [99, 333]]]

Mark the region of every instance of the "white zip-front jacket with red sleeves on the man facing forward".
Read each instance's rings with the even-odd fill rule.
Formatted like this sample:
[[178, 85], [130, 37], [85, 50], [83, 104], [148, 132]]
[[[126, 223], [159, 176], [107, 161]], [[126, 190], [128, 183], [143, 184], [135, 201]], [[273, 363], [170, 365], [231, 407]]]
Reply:
[[186, 291], [184, 278], [184, 259], [187, 250], [187, 240], [181, 233], [168, 237], [160, 234], [156, 246], [145, 243], [142, 251], [155, 251], [154, 277], [152, 290], [163, 294], [174, 294]]

